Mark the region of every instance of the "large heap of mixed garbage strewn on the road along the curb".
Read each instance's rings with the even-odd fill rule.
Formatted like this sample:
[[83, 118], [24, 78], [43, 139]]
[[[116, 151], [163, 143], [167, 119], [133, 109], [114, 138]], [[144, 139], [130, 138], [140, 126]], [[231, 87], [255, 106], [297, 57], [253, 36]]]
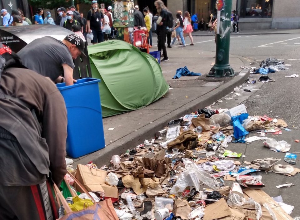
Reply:
[[[295, 176], [300, 169], [280, 158], [241, 164], [237, 158], [244, 155], [227, 149], [232, 142], [260, 141], [270, 150], [286, 152], [284, 161], [295, 164], [297, 154], [288, 152], [290, 144], [267, 137], [289, 131], [287, 127], [282, 119], [249, 116], [245, 105], [205, 108], [170, 121], [152, 140], [114, 155], [110, 166], [98, 169], [91, 162], [68, 170], [94, 200], [111, 200], [120, 220], [292, 220], [294, 207], [281, 196], [267, 195], [259, 172]], [[82, 192], [70, 175], [66, 179]]]

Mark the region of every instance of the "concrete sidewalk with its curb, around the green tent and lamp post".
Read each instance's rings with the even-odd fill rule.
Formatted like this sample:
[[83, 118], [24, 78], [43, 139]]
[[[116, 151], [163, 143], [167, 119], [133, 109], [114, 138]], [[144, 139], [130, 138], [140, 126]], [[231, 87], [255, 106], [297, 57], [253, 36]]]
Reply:
[[[180, 47], [168, 48], [169, 61], [161, 63], [163, 76], [171, 88], [168, 93], [143, 109], [103, 118], [106, 147], [76, 159], [75, 163], [87, 164], [90, 161], [96, 164], [107, 163], [112, 155], [143, 143], [169, 121], [212, 104], [248, 78], [248, 70], [240, 72], [240, 66], [249, 64], [243, 58], [233, 55], [230, 56], [230, 64], [236, 76], [206, 77], [212, 68], [211, 64], [215, 62], [213, 58], [215, 53], [196, 49], [192, 46], [189, 46], [188, 50], [182, 50]], [[176, 69], [184, 66], [190, 71], [202, 73], [202, 76], [172, 79]], [[108, 130], [109, 128], [114, 130]]]

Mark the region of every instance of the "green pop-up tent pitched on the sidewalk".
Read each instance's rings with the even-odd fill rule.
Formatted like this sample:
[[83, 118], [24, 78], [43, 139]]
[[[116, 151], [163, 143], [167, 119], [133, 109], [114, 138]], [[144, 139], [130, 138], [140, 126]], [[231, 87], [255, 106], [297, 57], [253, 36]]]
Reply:
[[168, 91], [153, 56], [119, 40], [88, 46], [92, 77], [101, 79], [103, 117], [143, 108]]

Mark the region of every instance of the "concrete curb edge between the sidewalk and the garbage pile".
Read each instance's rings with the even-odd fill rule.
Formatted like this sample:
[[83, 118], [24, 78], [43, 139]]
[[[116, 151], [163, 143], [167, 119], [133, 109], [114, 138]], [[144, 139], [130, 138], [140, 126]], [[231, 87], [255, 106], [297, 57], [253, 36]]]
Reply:
[[[242, 61], [244, 63], [247, 62], [244, 59], [242, 59]], [[192, 100], [179, 109], [174, 110], [173, 112], [162, 116], [161, 118], [144, 126], [143, 128], [140, 128], [133, 133], [113, 142], [112, 144], [109, 144], [104, 149], [83, 156], [82, 158], [79, 158], [79, 160], [75, 159], [75, 163], [73, 165], [76, 166], [77, 164], [88, 164], [90, 161], [93, 161], [94, 164], [108, 164], [114, 154], [120, 155], [127, 149], [132, 149], [137, 145], [143, 143], [145, 139], [153, 137], [156, 131], [165, 127], [169, 121], [180, 118], [183, 115], [190, 114], [197, 109], [205, 108], [206, 106], [211, 105], [213, 102], [221, 99], [223, 96], [230, 93], [235, 87], [244, 83], [245, 80], [248, 79], [249, 75], [250, 70], [242, 70], [237, 76], [234, 76], [232, 80], [224, 83], [217, 89], [212, 90], [195, 100]]]

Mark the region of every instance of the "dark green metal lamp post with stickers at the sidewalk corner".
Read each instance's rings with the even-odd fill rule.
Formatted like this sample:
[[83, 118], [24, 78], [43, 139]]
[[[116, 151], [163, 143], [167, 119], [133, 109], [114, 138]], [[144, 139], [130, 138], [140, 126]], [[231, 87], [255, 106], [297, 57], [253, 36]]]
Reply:
[[229, 65], [230, 29], [232, 0], [217, 0], [216, 61], [207, 77], [234, 76]]

